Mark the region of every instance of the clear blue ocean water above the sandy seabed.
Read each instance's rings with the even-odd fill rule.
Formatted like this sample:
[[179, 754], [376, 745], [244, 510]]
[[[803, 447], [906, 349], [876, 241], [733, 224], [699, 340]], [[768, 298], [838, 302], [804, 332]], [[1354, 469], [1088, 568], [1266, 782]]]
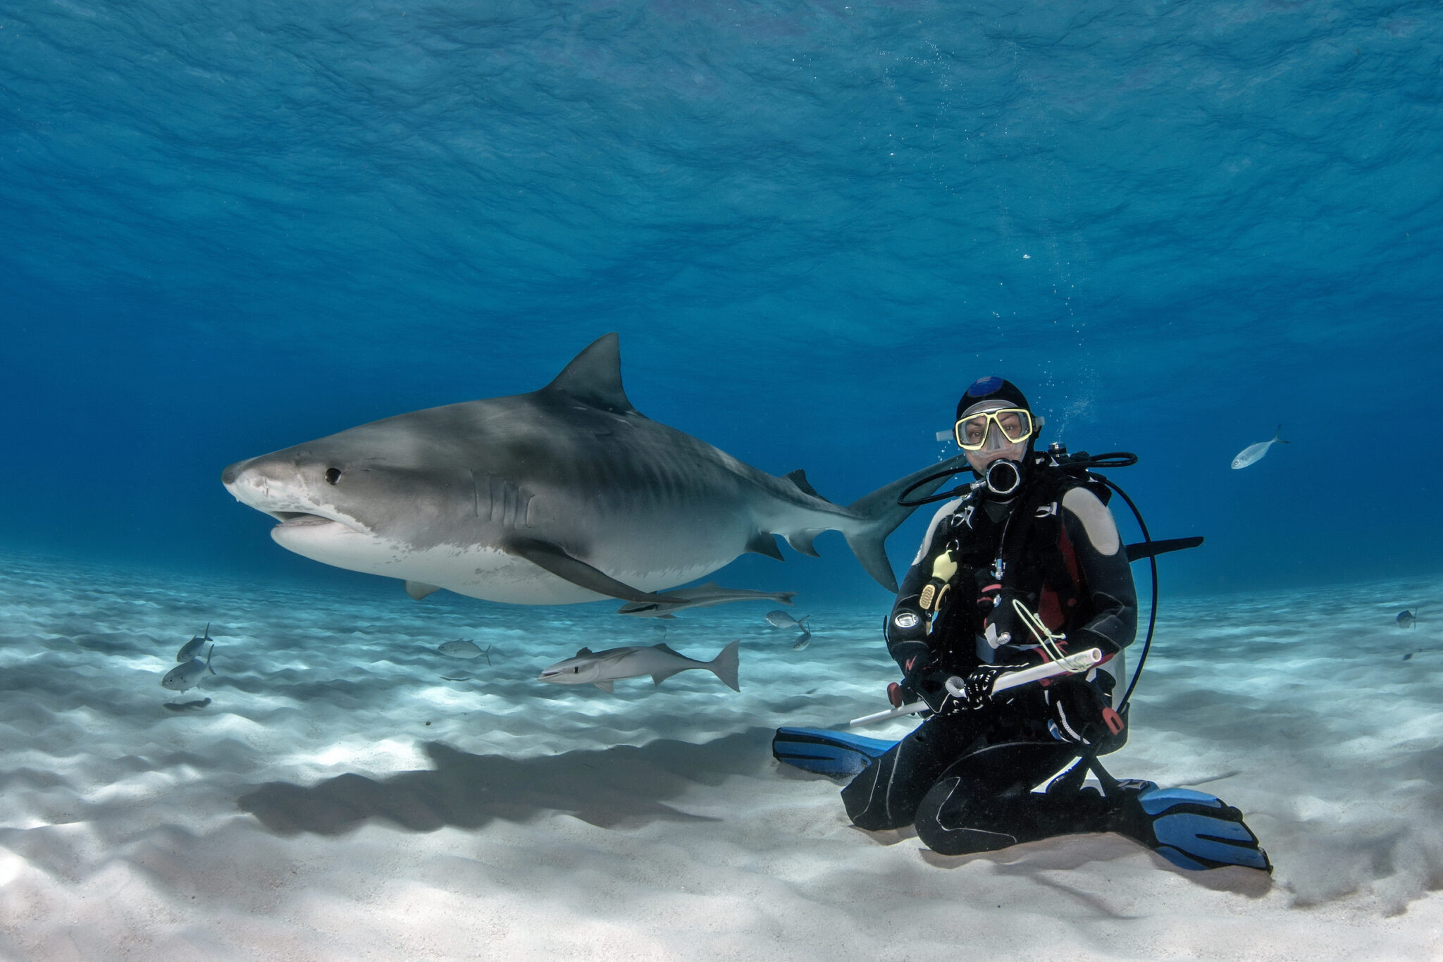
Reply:
[[[1206, 535], [1169, 591], [1437, 573], [1440, 42], [1380, 0], [0, 3], [0, 544], [398, 594], [221, 467], [618, 330], [641, 411], [835, 500], [1003, 374]], [[818, 547], [717, 580], [885, 609]]]

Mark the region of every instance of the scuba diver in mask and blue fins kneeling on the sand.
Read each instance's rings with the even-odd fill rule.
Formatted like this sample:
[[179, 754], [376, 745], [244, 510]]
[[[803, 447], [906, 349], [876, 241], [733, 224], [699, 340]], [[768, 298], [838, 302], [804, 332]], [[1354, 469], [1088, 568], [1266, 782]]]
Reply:
[[[895, 744], [782, 728], [773, 753], [828, 775], [866, 764], [841, 790], [853, 824], [915, 825], [945, 855], [1111, 831], [1185, 868], [1271, 871], [1238, 809], [1190, 789], [1120, 782], [1097, 760], [1127, 738], [1126, 695], [1114, 702], [1114, 694], [1137, 633], [1137, 591], [1107, 508], [1110, 483], [1087, 467], [1136, 459], [1069, 459], [1061, 446], [1039, 454], [1042, 425], [997, 376], [974, 382], [957, 405], [954, 436], [980, 480], [939, 496], [958, 495], [932, 518], [885, 626], [902, 671], [889, 687], [898, 711], [887, 714], [921, 708], [922, 724]], [[1139, 554], [1198, 542], [1149, 539]], [[1019, 669], [1063, 659], [1076, 668], [1069, 656], [1082, 652], [1095, 666], [994, 689]], [[1102, 792], [1084, 785], [1088, 772]]]

